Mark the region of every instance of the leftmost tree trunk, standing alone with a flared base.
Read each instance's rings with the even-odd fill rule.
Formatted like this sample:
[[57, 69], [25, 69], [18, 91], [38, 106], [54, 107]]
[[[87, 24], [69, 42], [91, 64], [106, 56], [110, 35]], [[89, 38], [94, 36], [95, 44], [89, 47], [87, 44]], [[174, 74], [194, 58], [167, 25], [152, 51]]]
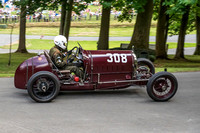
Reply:
[[20, 29], [19, 29], [19, 46], [16, 52], [27, 53], [26, 50], [26, 6], [21, 6]]

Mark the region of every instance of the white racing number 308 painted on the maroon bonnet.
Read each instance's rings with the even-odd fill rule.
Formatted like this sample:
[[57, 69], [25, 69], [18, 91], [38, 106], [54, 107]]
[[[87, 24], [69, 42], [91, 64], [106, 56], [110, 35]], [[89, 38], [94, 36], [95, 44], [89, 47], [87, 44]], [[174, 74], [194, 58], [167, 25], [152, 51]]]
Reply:
[[126, 54], [111, 54], [111, 53], [107, 53], [106, 55], [109, 56], [109, 59], [107, 59], [107, 62], [111, 63], [111, 62], [115, 62], [115, 63], [127, 63], [127, 55]]

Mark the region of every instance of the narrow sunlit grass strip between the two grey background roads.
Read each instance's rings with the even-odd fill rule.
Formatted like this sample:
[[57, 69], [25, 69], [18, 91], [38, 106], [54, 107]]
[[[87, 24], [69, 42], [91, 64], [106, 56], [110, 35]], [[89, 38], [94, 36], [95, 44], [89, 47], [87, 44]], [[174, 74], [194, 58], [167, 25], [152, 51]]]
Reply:
[[[97, 49], [97, 41], [69, 41], [69, 49], [77, 46], [77, 42], [79, 42], [84, 49], [93, 50]], [[110, 41], [109, 48], [120, 47], [121, 43], [129, 43], [129, 41]], [[150, 42], [150, 44], [155, 44], [155, 42]], [[177, 43], [168, 43], [169, 49], [173, 49], [177, 47]], [[27, 49], [50, 49], [53, 47], [53, 40], [43, 40], [43, 39], [27, 39], [26, 40], [26, 47]], [[185, 43], [185, 47], [195, 47], [195, 43]], [[12, 45], [12, 49], [17, 49], [18, 44]], [[9, 49], [9, 45], [1, 46], [0, 48]]]

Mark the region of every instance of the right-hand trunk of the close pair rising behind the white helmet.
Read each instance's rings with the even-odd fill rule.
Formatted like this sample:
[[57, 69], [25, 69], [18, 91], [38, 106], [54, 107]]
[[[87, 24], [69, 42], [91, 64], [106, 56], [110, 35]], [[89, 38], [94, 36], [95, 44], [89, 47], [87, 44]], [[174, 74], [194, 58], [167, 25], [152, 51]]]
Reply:
[[67, 41], [69, 40], [69, 31], [70, 31], [71, 16], [72, 16], [72, 6], [73, 6], [73, 0], [69, 0], [69, 7], [66, 12], [65, 25], [64, 25], [64, 36], [67, 38]]

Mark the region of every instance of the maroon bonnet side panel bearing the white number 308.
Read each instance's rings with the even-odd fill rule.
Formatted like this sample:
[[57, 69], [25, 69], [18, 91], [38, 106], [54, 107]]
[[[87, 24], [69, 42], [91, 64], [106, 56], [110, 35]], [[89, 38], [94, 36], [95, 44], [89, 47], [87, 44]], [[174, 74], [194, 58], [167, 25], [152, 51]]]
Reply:
[[[117, 81], [132, 79], [134, 71], [132, 51], [84, 51], [83, 59], [90, 83], [96, 84], [95, 89], [122, 88], [130, 85], [130, 83], [118, 83]], [[108, 81], [116, 82], [104, 83]]]

